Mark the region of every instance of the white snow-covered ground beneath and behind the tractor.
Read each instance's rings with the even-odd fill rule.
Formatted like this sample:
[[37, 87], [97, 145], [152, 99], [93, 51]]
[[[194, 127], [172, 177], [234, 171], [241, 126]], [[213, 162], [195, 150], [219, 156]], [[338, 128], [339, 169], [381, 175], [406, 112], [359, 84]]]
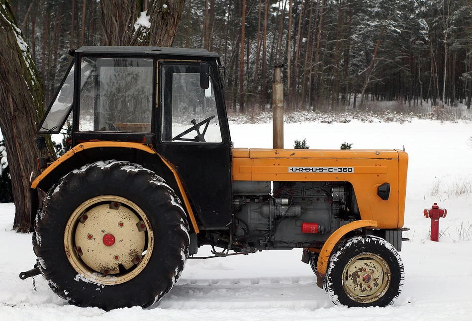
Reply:
[[[271, 124], [232, 124], [235, 147], [272, 146]], [[431, 120], [365, 123], [291, 123], [285, 147], [307, 138], [313, 149], [401, 149], [409, 154], [408, 190], [400, 255], [405, 285], [387, 308], [334, 306], [316, 286], [301, 251], [188, 260], [182, 278], [157, 305], [104, 312], [70, 306], [36, 278], [21, 281], [35, 256], [31, 235], [12, 231], [14, 206], [0, 205], [0, 320], [472, 320], [472, 124]], [[463, 193], [464, 192], [464, 193]], [[433, 196], [433, 195], [434, 196]], [[439, 242], [429, 241], [423, 209], [433, 202], [448, 210]], [[200, 248], [198, 254], [209, 254]]]

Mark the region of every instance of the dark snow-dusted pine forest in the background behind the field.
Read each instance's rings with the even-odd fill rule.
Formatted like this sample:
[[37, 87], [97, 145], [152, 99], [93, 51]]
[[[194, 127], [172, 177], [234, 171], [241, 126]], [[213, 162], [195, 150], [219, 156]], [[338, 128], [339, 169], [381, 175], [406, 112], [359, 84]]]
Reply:
[[[111, 7], [129, 2], [136, 12], [151, 9], [149, 0], [111, 1]], [[69, 65], [70, 48], [117, 44], [102, 27], [113, 23], [110, 1], [12, 0], [11, 5], [43, 79], [46, 104]], [[269, 110], [274, 66], [281, 64], [287, 111], [362, 109], [383, 101], [408, 111], [471, 107], [470, 0], [186, 0], [183, 5], [172, 46], [220, 54], [227, 68], [228, 111]], [[129, 15], [134, 23], [128, 27], [138, 28], [145, 14]]]

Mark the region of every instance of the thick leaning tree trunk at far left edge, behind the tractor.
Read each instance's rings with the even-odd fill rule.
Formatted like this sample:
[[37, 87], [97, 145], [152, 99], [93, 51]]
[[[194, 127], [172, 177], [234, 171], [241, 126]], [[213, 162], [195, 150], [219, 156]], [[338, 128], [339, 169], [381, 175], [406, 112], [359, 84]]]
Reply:
[[[0, 101], [0, 127], [15, 202], [13, 229], [27, 233], [31, 225], [29, 176], [31, 171], [33, 176], [39, 174], [39, 152], [33, 138], [44, 114], [44, 94], [40, 75], [7, 0], [0, 0]], [[50, 137], [48, 141], [52, 148]], [[51, 156], [55, 157], [53, 149]]]

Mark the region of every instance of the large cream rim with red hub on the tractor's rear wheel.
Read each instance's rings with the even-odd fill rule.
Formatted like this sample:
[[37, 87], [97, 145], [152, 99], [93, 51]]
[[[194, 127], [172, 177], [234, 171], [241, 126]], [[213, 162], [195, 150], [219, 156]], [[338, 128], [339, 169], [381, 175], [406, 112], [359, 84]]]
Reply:
[[82, 203], [64, 233], [69, 262], [98, 284], [119, 284], [136, 277], [149, 262], [153, 245], [146, 214], [130, 200], [114, 195]]

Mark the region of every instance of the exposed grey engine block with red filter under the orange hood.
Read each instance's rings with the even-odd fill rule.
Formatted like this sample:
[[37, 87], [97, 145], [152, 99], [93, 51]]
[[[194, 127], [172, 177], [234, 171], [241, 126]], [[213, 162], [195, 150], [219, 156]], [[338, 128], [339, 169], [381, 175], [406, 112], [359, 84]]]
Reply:
[[359, 214], [347, 182], [237, 183], [236, 239], [258, 250], [316, 247]]

